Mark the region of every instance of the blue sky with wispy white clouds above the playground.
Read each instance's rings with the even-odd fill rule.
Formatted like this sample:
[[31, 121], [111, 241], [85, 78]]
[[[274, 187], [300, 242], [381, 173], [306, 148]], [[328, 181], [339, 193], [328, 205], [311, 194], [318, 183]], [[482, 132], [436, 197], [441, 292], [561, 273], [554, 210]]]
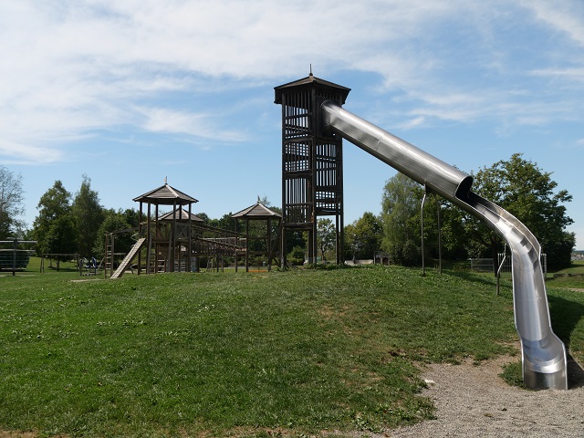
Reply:
[[[464, 172], [523, 153], [572, 195], [584, 249], [581, 0], [3, 0], [0, 59], [0, 164], [29, 225], [83, 175], [116, 210], [165, 179], [212, 218], [280, 206], [274, 88], [312, 68], [351, 89], [346, 110]], [[381, 212], [395, 171], [343, 151], [350, 224]]]

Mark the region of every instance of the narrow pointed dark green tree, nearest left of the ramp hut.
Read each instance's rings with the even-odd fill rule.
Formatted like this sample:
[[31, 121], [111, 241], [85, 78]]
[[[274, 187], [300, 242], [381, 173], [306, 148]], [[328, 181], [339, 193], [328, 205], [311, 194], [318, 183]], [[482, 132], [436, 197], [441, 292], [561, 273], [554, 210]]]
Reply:
[[89, 258], [98, 236], [99, 226], [104, 219], [103, 207], [99, 204], [99, 195], [91, 190], [91, 180], [84, 174], [83, 181], [71, 206], [77, 226], [78, 253]]

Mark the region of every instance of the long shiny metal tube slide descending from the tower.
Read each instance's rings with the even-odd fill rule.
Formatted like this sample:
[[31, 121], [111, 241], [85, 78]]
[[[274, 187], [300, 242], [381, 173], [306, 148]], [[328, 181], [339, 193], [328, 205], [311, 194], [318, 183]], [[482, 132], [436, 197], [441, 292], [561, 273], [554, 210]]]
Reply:
[[567, 390], [566, 349], [551, 328], [539, 261], [541, 247], [536, 237], [512, 214], [471, 192], [471, 175], [343, 110], [330, 100], [324, 101], [320, 110], [325, 129], [482, 219], [506, 240], [513, 256], [515, 324], [521, 340], [525, 384], [531, 389]]

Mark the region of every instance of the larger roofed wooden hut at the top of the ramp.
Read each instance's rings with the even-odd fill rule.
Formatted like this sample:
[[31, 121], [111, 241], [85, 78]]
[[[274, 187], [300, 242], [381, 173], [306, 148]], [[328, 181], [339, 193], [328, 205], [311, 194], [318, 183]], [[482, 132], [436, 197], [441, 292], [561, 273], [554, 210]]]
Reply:
[[[169, 184], [144, 193], [133, 199], [140, 203], [141, 240], [146, 242], [146, 274], [158, 272], [189, 272], [191, 270], [193, 203], [199, 201]], [[146, 221], [143, 221], [143, 205], [147, 205]], [[152, 212], [152, 205], [154, 206]], [[160, 205], [172, 205], [169, 214], [160, 215]], [[188, 212], [183, 211], [188, 207]], [[198, 219], [198, 218], [197, 218]], [[142, 240], [143, 239], [143, 240]], [[137, 245], [138, 245], [137, 243]], [[141, 245], [142, 245], [141, 244]], [[141, 273], [141, 253], [138, 252], [138, 274]]]

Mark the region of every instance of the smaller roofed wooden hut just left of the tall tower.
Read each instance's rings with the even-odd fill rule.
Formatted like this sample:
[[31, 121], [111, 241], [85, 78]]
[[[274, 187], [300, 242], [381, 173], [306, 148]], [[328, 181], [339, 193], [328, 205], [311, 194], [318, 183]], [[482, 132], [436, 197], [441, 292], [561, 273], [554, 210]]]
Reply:
[[[245, 224], [245, 272], [249, 272], [250, 257], [264, 257], [269, 271], [276, 252], [280, 251], [282, 215], [259, 202], [231, 216], [235, 219], [235, 232], [239, 232], [240, 221]], [[252, 225], [252, 224], [255, 224]], [[235, 271], [238, 255], [235, 254]]]

